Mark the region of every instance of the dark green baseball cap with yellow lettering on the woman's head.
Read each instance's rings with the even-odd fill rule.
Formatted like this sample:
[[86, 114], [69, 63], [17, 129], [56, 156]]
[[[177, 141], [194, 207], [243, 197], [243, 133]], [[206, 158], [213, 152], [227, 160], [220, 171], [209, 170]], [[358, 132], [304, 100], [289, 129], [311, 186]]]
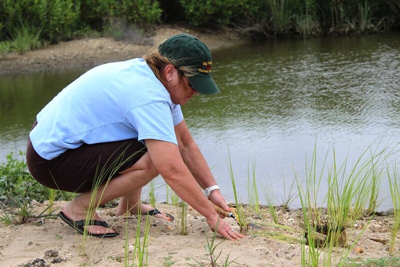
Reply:
[[212, 59], [208, 47], [189, 34], [169, 37], [158, 46], [161, 55], [175, 62], [176, 67], [191, 67], [194, 75], [187, 77], [193, 88], [202, 94], [218, 93], [211, 77]]

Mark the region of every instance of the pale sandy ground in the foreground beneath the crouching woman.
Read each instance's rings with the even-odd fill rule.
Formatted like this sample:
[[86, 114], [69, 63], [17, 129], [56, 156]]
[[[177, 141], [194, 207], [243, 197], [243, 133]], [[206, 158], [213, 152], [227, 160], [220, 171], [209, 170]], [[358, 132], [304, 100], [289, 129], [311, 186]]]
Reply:
[[[56, 214], [64, 205], [58, 201], [53, 205]], [[33, 207], [37, 213], [48, 206], [48, 203], [36, 203]], [[213, 232], [203, 221], [203, 218], [192, 209], [187, 210], [186, 225], [187, 235], [180, 234], [179, 210], [165, 203], [156, 204], [164, 212], [172, 214], [175, 219], [171, 222], [157, 218], [151, 219], [148, 238], [148, 266], [210, 266], [210, 257], [204, 245], [207, 238], [212, 239]], [[112, 228], [120, 233], [113, 238], [82, 238], [75, 233], [72, 227], [65, 224], [60, 218], [54, 216], [47, 219], [30, 219], [20, 225], [0, 225], [0, 266], [30, 266], [29, 263], [44, 262], [46, 265], [34, 266], [129, 266], [133, 264], [133, 252], [129, 250], [135, 239], [137, 216], [115, 217], [115, 207], [102, 207], [98, 209], [100, 216]], [[279, 224], [290, 227], [281, 229], [270, 226], [271, 216], [264, 207], [257, 214], [248, 212], [248, 222], [260, 226], [260, 229], [243, 231], [246, 237], [237, 241], [223, 241], [217, 236], [215, 244], [220, 243], [215, 249], [215, 255], [221, 252], [217, 266], [223, 266], [222, 261], [228, 256], [229, 261], [234, 260], [230, 266], [299, 266], [301, 261], [302, 216], [299, 210], [277, 211]], [[233, 218], [225, 218], [232, 227], [239, 230]], [[345, 230], [347, 245], [353, 244], [361, 233], [354, 247], [344, 249], [334, 247], [331, 263], [335, 265], [343, 253], [348, 250], [350, 258], [380, 258], [388, 257], [388, 240], [392, 218], [375, 216], [369, 223], [364, 220], [357, 221], [353, 227]], [[140, 219], [141, 241], [145, 217]], [[286, 241], [277, 240], [275, 237], [284, 235]], [[207, 236], [207, 237], [206, 237]], [[290, 242], [289, 242], [290, 240]], [[396, 238], [394, 255], [398, 256], [399, 240]], [[55, 253], [49, 253], [49, 250]], [[306, 252], [308, 246], [305, 246]], [[323, 250], [321, 250], [323, 251]], [[127, 255], [127, 256], [126, 256]], [[128, 258], [128, 259], [126, 259]], [[323, 253], [321, 253], [323, 258]], [[126, 264], [127, 265], [127, 264]], [[324, 264], [321, 264], [322, 266]], [[33, 266], [33, 265], [32, 265]], [[133, 265], [134, 266], [134, 265]]]

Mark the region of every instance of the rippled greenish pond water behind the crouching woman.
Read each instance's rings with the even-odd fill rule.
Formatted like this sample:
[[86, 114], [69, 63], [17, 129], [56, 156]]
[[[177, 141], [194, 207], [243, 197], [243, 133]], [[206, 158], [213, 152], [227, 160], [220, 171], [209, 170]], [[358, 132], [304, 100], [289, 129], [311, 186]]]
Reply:
[[[278, 204], [294, 173], [304, 176], [315, 143], [318, 166], [326, 151], [332, 161], [332, 147], [338, 165], [344, 159], [351, 165], [370, 145], [395, 147], [399, 48], [399, 34], [387, 34], [268, 41], [214, 52], [221, 93], [197, 96], [182, 109], [226, 199], [233, 200], [229, 157], [244, 202], [255, 166], [260, 201], [265, 187]], [[0, 76], [0, 159], [24, 149], [35, 114], [83, 71]], [[165, 200], [162, 178], [155, 183], [157, 200]], [[390, 208], [386, 179], [380, 190], [386, 193], [379, 208]], [[290, 206], [298, 205], [295, 199]]]

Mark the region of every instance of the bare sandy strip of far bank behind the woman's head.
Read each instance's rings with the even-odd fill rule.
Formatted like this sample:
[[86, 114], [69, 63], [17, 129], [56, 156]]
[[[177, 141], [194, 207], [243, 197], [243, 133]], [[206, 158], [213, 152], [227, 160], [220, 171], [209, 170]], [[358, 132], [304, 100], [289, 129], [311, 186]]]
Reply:
[[58, 71], [76, 67], [91, 68], [103, 63], [142, 57], [151, 46], [178, 33], [188, 33], [198, 37], [211, 52], [250, 41], [224, 29], [210, 32], [163, 26], [155, 29], [151, 37], [141, 36], [119, 41], [111, 37], [82, 38], [48, 45], [23, 54], [0, 55], [0, 75]]

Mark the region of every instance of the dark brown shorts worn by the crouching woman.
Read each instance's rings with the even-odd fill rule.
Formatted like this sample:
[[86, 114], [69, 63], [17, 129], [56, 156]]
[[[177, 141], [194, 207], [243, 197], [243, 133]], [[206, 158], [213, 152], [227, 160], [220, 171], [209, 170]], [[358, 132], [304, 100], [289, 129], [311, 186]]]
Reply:
[[[33, 123], [32, 129], [36, 123]], [[118, 172], [132, 166], [147, 151], [137, 139], [86, 144], [68, 149], [47, 160], [34, 150], [30, 138], [26, 148], [26, 163], [30, 174], [44, 186], [68, 191], [86, 192], [93, 184], [114, 178]]]

